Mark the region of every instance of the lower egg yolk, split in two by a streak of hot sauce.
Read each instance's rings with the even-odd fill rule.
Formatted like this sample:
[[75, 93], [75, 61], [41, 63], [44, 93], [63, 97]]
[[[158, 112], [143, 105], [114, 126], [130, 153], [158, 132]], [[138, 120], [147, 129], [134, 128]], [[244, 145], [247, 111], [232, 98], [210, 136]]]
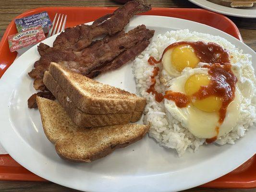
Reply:
[[[188, 96], [191, 96], [198, 92], [201, 86], [206, 86], [209, 83], [209, 75], [202, 73], [194, 74], [190, 76], [185, 83], [185, 93]], [[221, 97], [218, 96], [208, 96], [207, 98], [201, 100], [192, 98], [191, 102], [196, 108], [206, 112], [219, 111], [222, 104]]]

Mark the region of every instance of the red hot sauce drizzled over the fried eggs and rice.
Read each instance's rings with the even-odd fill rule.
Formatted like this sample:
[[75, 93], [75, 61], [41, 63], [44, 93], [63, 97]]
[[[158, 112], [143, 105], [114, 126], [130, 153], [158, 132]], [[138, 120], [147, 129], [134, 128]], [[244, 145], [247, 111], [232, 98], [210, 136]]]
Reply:
[[[201, 86], [201, 89], [196, 92], [193, 96], [196, 99], [204, 99], [208, 96], [219, 96], [222, 98], [222, 105], [219, 109], [219, 123], [222, 124], [227, 108], [229, 104], [235, 97], [235, 84], [237, 82], [236, 76], [231, 70], [231, 64], [229, 60], [229, 54], [226, 49], [222, 48], [215, 43], [204, 43], [202, 41], [198, 42], [177, 42], [169, 45], [163, 51], [164, 53], [170, 48], [180, 46], [180, 45], [189, 45], [191, 46], [196, 56], [200, 59], [201, 62], [209, 63], [210, 65], [205, 65], [203, 67], [208, 68], [208, 74], [211, 76], [210, 84], [207, 86]], [[160, 63], [162, 60], [156, 60], [154, 57], [149, 57], [148, 63], [150, 65], [155, 65]], [[152, 85], [148, 88], [147, 93], [152, 93], [155, 95], [155, 99], [158, 102], [161, 102], [163, 98], [172, 100], [175, 102], [176, 106], [179, 108], [187, 107], [190, 103], [190, 98], [183, 93], [166, 91], [163, 96], [161, 93], [158, 93], [155, 90], [156, 79], [158, 75], [159, 68], [154, 67], [153, 75], [151, 76]], [[219, 134], [219, 127], [216, 127], [217, 135]], [[217, 139], [217, 136], [207, 139], [208, 144], [214, 142]]]

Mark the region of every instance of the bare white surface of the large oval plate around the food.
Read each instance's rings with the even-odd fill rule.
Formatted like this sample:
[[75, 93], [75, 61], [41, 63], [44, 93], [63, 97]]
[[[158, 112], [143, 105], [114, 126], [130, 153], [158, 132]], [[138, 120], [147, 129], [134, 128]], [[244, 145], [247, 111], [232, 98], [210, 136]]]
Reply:
[[[204, 24], [171, 17], [135, 16], [126, 30], [139, 24], [156, 30], [154, 38], [159, 33], [184, 27], [219, 35], [253, 55], [253, 63], [256, 62], [256, 53], [244, 43]], [[51, 45], [55, 38], [43, 42]], [[38, 110], [27, 108], [28, 97], [35, 93], [27, 72], [38, 59], [34, 46], [15, 60], [0, 80], [0, 142], [18, 163], [42, 178], [86, 192], [171, 192], [219, 178], [255, 154], [256, 129], [251, 128], [234, 145], [202, 146], [198, 152], [187, 152], [181, 158], [174, 150], [161, 147], [146, 136], [92, 163], [64, 161], [46, 138]], [[131, 62], [97, 80], [135, 93]]]

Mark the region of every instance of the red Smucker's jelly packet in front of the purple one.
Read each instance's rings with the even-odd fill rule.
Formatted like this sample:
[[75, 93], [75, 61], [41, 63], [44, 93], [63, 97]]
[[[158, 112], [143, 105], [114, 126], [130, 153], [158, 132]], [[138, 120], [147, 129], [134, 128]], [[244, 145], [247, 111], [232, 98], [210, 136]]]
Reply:
[[9, 48], [11, 52], [22, 51], [23, 48], [28, 49], [33, 45], [45, 39], [45, 34], [41, 26], [31, 27], [27, 30], [8, 36]]

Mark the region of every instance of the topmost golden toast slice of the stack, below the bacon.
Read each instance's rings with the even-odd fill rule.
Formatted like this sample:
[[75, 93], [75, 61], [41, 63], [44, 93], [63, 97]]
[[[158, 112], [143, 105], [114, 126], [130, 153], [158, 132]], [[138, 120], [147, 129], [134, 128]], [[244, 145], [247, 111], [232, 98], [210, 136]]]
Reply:
[[51, 62], [49, 72], [80, 110], [92, 114], [143, 111], [146, 99], [122, 89], [101, 84]]

